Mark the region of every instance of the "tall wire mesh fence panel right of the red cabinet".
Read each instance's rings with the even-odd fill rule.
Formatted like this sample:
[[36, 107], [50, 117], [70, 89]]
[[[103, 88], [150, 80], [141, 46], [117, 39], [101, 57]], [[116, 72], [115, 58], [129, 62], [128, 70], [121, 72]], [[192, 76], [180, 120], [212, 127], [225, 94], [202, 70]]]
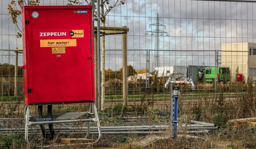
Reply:
[[[254, 7], [250, 2], [190, 0], [127, 1], [115, 7], [105, 25], [129, 28], [129, 101], [140, 101], [145, 93], [149, 99], [165, 100], [169, 75], [176, 80], [192, 77], [196, 90], [181, 89], [192, 97], [244, 92], [248, 79], [254, 80]], [[123, 98], [120, 36], [105, 38], [106, 101]]]

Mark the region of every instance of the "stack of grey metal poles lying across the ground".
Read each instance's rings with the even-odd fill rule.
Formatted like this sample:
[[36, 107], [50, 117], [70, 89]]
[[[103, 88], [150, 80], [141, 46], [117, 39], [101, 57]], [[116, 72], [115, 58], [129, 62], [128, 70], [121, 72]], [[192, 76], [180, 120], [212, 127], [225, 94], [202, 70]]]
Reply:
[[[192, 121], [195, 124], [182, 124], [178, 125], [178, 132], [184, 133], [209, 133], [210, 130], [218, 129], [215, 124]], [[201, 123], [201, 124], [198, 124]], [[102, 134], [161, 134], [171, 133], [171, 127], [169, 125], [152, 125], [152, 126], [107, 126], [101, 127]], [[50, 131], [46, 128], [46, 131]], [[24, 133], [25, 128], [1, 128], [1, 135], [7, 135], [11, 132]], [[40, 128], [29, 128], [29, 133], [40, 132]], [[57, 127], [56, 133], [63, 134], [86, 134], [87, 127]], [[98, 134], [97, 127], [91, 127], [90, 134]]]

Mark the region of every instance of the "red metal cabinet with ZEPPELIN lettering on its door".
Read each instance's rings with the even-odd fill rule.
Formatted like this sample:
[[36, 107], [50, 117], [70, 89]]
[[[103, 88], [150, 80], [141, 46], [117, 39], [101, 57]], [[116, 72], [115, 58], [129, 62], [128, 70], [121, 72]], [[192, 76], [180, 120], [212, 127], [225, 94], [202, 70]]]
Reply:
[[92, 6], [25, 6], [25, 105], [92, 102]]

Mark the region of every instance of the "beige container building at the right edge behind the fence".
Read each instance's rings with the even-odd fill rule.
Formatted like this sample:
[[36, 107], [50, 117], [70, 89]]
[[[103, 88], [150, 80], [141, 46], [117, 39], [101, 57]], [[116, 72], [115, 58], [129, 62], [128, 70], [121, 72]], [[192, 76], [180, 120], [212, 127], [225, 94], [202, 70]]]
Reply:
[[247, 83], [252, 77], [256, 83], [256, 43], [223, 44], [221, 48], [221, 67], [229, 67], [231, 82], [237, 80], [237, 73], [243, 74]]

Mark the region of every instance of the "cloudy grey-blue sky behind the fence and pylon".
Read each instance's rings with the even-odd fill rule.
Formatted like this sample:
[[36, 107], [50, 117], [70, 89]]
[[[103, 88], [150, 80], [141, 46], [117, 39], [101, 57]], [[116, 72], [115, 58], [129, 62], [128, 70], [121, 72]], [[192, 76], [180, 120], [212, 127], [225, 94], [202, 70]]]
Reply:
[[[10, 0], [11, 1], [11, 0]], [[82, 2], [82, 0], [80, 0]], [[9, 0], [0, 0], [0, 63], [14, 64], [16, 47], [22, 39], [11, 22], [7, 9]], [[41, 0], [40, 5], [66, 5], [66, 0]], [[86, 2], [82, 2], [84, 5]], [[110, 5], [114, 3], [110, 0]], [[150, 69], [155, 55], [157, 13], [160, 30], [168, 34], [159, 37], [160, 66], [200, 65], [214, 66], [215, 50], [225, 43], [256, 42], [256, 4], [240, 2], [213, 2], [191, 0], [126, 0], [107, 16], [106, 26], [127, 26], [128, 64], [136, 69], [146, 67], [146, 49], [150, 49]], [[18, 26], [21, 28], [20, 20]], [[166, 36], [167, 35], [167, 36]], [[122, 66], [121, 35], [106, 36], [106, 69]], [[22, 55], [19, 65], [22, 65]]]

